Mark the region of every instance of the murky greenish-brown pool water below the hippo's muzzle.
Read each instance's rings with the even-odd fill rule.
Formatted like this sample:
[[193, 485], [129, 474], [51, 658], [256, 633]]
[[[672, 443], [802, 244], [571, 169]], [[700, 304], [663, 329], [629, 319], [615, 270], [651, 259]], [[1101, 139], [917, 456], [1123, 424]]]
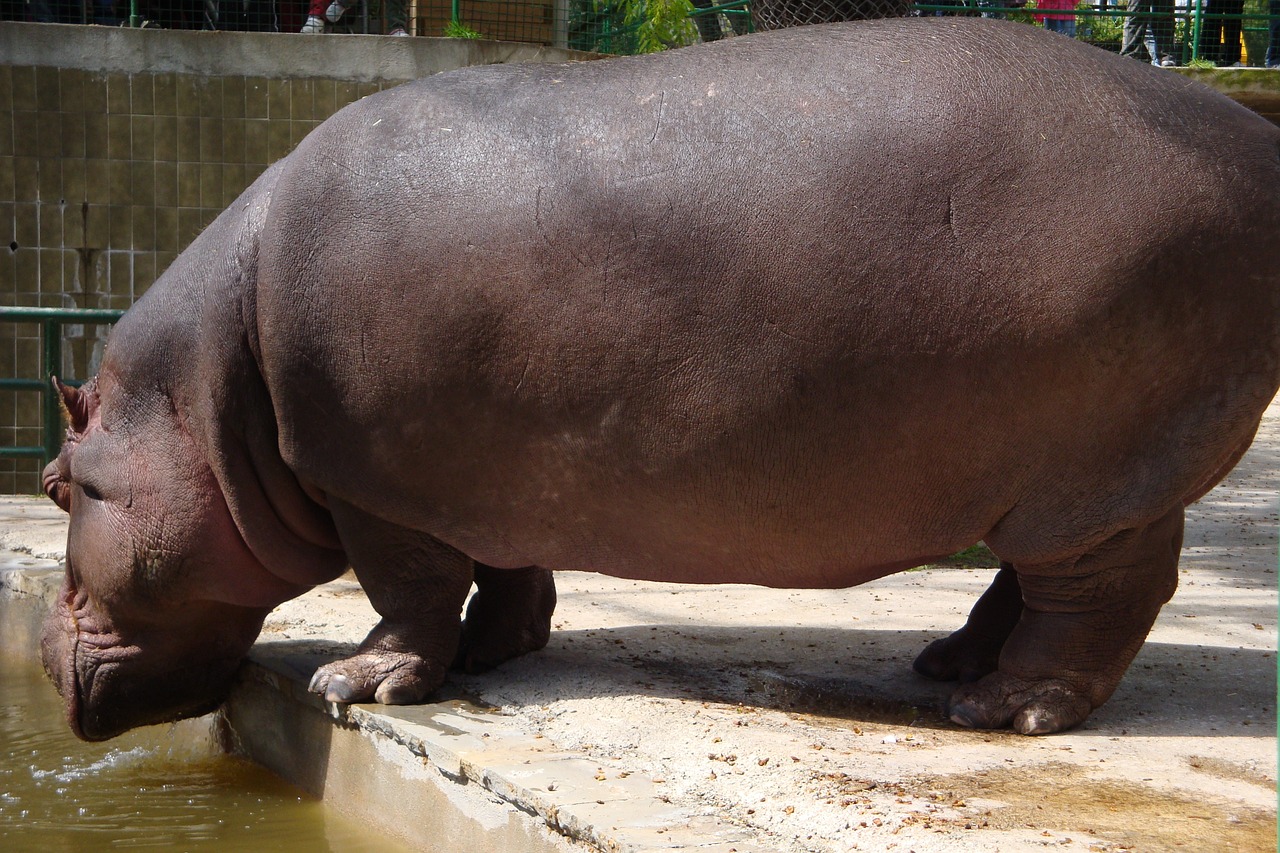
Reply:
[[207, 721], [81, 743], [31, 648], [14, 648], [26, 610], [0, 598], [0, 850], [406, 849], [220, 754]]

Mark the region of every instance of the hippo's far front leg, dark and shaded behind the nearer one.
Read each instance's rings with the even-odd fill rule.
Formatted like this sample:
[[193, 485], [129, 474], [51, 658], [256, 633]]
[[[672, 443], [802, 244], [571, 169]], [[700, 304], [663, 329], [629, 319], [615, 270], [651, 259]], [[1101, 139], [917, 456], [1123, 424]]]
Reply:
[[475, 584], [453, 669], [483, 672], [547, 646], [556, 611], [556, 580], [548, 569], [476, 564]]

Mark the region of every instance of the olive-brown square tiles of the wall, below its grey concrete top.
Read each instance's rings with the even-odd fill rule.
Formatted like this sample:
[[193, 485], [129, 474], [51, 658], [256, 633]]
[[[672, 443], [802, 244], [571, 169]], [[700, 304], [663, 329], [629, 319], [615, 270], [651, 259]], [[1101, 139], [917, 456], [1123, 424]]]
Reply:
[[[0, 305], [127, 309], [311, 128], [384, 83], [0, 65]], [[105, 327], [64, 327], [61, 375]], [[0, 377], [40, 374], [38, 329], [0, 324]], [[40, 443], [40, 400], [0, 392], [0, 446]], [[40, 489], [0, 457], [0, 493]]]

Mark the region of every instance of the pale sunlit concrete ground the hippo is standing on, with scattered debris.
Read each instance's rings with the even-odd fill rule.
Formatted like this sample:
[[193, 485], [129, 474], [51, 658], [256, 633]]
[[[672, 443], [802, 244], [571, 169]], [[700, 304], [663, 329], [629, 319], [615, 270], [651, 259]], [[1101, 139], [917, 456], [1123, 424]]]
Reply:
[[[1275, 850], [1277, 492], [1280, 400], [1190, 507], [1178, 594], [1125, 681], [1061, 735], [963, 730], [941, 713], [951, 688], [911, 672], [989, 567], [815, 592], [563, 573], [541, 653], [456, 676], [436, 704], [326, 711], [413, 751], [413, 784], [534, 826], [539, 849]], [[64, 535], [50, 503], [0, 500], [19, 562]], [[310, 667], [374, 621], [339, 579], [278, 608], [255, 656], [319, 708]]]

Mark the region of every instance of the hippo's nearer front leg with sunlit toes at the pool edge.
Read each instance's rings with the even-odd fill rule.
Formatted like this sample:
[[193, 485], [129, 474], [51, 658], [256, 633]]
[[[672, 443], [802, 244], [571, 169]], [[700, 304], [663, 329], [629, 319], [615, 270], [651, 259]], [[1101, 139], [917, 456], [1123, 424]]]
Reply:
[[310, 690], [330, 702], [411, 704], [444, 681], [458, 649], [458, 613], [471, 589], [462, 552], [352, 506], [329, 510], [356, 578], [381, 621], [356, 654], [316, 670]]

